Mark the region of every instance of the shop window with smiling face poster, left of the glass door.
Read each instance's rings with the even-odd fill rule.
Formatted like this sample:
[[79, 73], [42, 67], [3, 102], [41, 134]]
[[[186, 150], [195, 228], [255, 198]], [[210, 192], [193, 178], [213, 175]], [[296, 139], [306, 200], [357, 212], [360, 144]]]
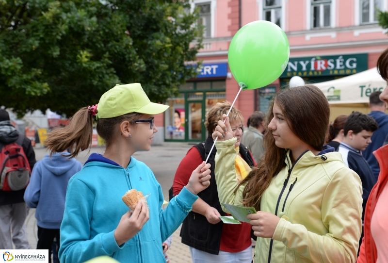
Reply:
[[[183, 94], [182, 96], [183, 97]], [[170, 107], [164, 114], [165, 139], [185, 139], [185, 99], [168, 99]]]

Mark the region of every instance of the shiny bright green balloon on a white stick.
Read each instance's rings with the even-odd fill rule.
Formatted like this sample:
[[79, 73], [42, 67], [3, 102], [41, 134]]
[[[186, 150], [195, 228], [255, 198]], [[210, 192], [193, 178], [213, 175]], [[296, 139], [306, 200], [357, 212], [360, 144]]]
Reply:
[[283, 73], [290, 58], [286, 34], [269, 21], [254, 21], [243, 26], [233, 37], [228, 63], [243, 89], [256, 89], [274, 82]]

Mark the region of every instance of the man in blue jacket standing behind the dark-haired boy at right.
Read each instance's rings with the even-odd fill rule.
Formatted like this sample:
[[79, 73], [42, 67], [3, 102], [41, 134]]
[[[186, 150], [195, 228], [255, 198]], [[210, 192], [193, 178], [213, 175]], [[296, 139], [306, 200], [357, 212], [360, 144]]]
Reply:
[[388, 134], [388, 115], [385, 114], [386, 102], [381, 101], [379, 96], [381, 91], [375, 91], [369, 96], [369, 107], [371, 108], [371, 113], [368, 114], [371, 116], [379, 125], [379, 128], [373, 132], [372, 143], [362, 151], [362, 156], [367, 160], [368, 164], [371, 166], [373, 175], [376, 178], [379, 176], [380, 167], [377, 164], [376, 157], [373, 155], [373, 151], [382, 147], [384, 144], [384, 139]]

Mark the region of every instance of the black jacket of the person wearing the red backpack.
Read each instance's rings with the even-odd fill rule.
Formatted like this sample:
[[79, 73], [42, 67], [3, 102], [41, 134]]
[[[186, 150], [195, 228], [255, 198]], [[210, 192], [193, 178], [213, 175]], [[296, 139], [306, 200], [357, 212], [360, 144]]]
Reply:
[[[0, 123], [0, 129], [1, 129], [1, 126], [4, 125], [4, 123], [5, 123], [4, 121], [2, 121]], [[9, 123], [9, 125], [11, 125], [11, 124]], [[10, 127], [9, 125], [7, 123], [5, 123], [4, 126], [8, 126], [7, 128], [9, 128]], [[23, 136], [23, 135], [18, 134], [16, 129], [15, 128], [12, 129], [12, 127], [11, 127], [11, 129], [9, 129], [10, 132], [0, 132], [0, 143], [1, 144], [7, 145], [10, 143], [14, 143], [14, 142], [16, 142], [16, 140], [18, 139], [19, 136]], [[33, 165], [36, 163], [36, 160], [35, 160], [35, 152], [33, 151], [30, 139], [24, 137], [21, 146], [23, 147], [24, 153], [27, 156], [28, 162], [29, 162], [31, 170], [32, 170]], [[0, 160], [0, 162], [2, 162], [2, 160]], [[8, 204], [16, 204], [16, 203], [24, 202], [24, 199], [23, 199], [24, 191], [25, 191], [25, 189], [19, 190], [19, 191], [2, 191], [2, 190], [0, 190], [0, 205], [8, 205]]]

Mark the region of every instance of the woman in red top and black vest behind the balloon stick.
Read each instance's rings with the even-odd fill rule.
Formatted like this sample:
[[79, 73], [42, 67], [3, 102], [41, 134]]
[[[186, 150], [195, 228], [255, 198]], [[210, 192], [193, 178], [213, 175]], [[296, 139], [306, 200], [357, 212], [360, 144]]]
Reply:
[[[183, 220], [180, 231], [182, 243], [190, 248], [193, 263], [251, 263], [252, 261], [251, 225], [248, 223], [232, 225], [221, 222], [220, 216], [226, 214], [221, 209], [214, 176], [214, 157], [217, 149], [214, 147], [210, 152], [213, 145], [211, 134], [221, 116], [226, 114], [230, 107], [230, 102], [224, 101], [218, 102], [209, 110], [205, 121], [209, 137], [187, 152], [174, 178], [173, 190], [174, 195], [177, 195], [190, 178], [187, 172], [190, 167], [202, 163], [210, 155], [208, 160], [208, 163], [211, 164], [210, 186], [198, 195], [199, 198], [193, 204], [193, 211]], [[236, 107], [230, 111], [229, 119], [233, 136], [237, 138], [235, 144], [238, 152], [235, 161], [236, 173], [238, 178], [243, 179], [251, 170], [250, 167], [255, 166], [256, 163], [248, 148], [240, 143], [243, 117]]]

